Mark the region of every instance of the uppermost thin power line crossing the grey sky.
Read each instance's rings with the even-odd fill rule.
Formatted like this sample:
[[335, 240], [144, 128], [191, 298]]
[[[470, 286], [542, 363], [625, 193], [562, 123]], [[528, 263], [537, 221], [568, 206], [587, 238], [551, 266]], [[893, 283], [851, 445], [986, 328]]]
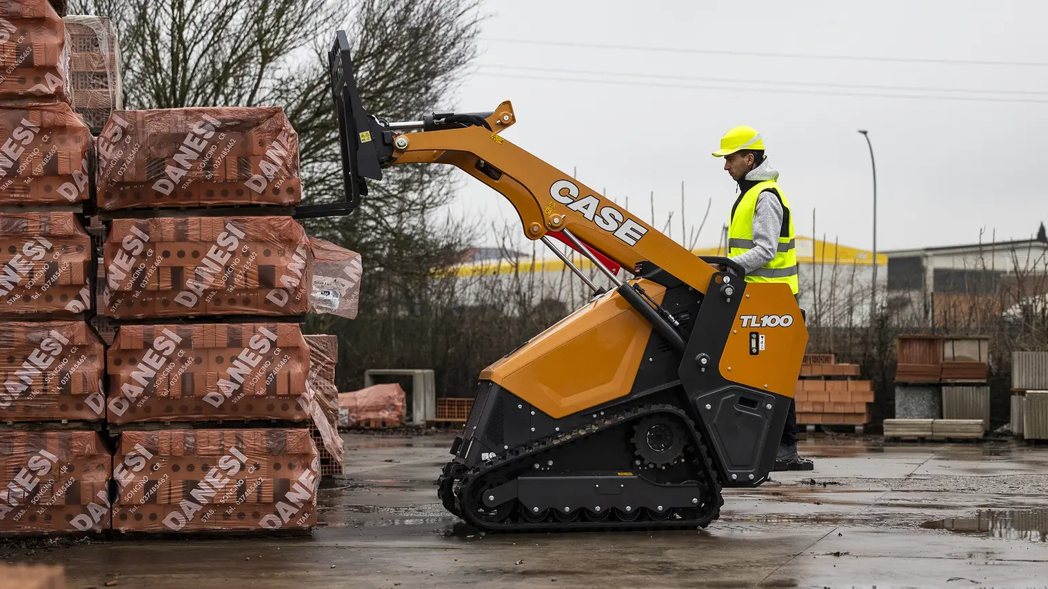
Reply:
[[947, 60], [938, 58], [885, 58], [876, 56], [822, 56], [818, 53], [786, 53], [772, 51], [736, 51], [728, 49], [693, 49], [690, 47], [652, 47], [642, 45], [611, 45], [605, 43], [576, 43], [572, 41], [531, 41], [528, 39], [482, 39], [489, 43], [515, 43], [519, 45], [549, 45], [553, 47], [576, 47], [584, 49], [614, 49], [625, 51], [659, 51], [665, 53], [699, 53], [707, 56], [740, 56], [751, 58], [786, 58], [795, 60], [860, 61], [879, 63], [915, 63], [938, 65], [988, 65], [1018, 67], [1048, 67], [1048, 62], [1013, 62], [997, 60]]

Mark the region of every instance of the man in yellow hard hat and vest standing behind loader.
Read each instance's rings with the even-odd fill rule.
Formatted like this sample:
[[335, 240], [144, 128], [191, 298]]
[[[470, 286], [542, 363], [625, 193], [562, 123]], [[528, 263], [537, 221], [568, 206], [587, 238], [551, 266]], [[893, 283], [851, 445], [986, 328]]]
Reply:
[[[768, 163], [764, 139], [752, 127], [736, 127], [721, 137], [715, 157], [724, 158], [724, 170], [739, 184], [728, 224], [728, 257], [746, 272], [746, 282], [788, 284], [800, 299], [793, 216]], [[777, 466], [800, 461], [796, 454], [796, 405], [790, 399]]]

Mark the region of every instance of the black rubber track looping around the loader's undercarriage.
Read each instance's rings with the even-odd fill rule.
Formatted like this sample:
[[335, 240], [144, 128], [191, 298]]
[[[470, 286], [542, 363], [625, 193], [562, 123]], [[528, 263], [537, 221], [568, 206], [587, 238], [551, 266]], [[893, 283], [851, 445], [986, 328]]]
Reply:
[[[697, 519], [665, 519], [665, 520], [650, 520], [638, 518], [633, 522], [619, 522], [619, 521], [607, 521], [607, 522], [589, 522], [589, 521], [578, 521], [578, 522], [527, 522], [527, 521], [504, 521], [504, 522], [489, 522], [485, 520], [479, 520], [474, 517], [474, 512], [470, 509], [470, 505], [466, 504], [466, 498], [470, 497], [470, 486], [474, 481], [482, 479], [488, 474], [492, 474], [498, 470], [501, 470], [509, 464], [529, 459], [531, 456], [545, 452], [547, 450], [552, 450], [564, 444], [571, 443], [581, 437], [592, 436], [599, 434], [604, 431], [610, 430], [616, 426], [621, 426], [623, 423], [629, 421], [635, 421], [640, 417], [646, 415], [651, 415], [655, 413], [672, 413], [679, 417], [686, 426], [692, 434], [692, 440], [698, 450], [698, 457], [696, 461], [699, 462], [699, 466], [705, 473], [705, 481], [702, 481], [703, 490], [706, 495], [705, 508], [706, 512], [702, 517]], [[445, 466], [446, 471], [451, 467]], [[441, 478], [443, 479], [444, 476]], [[453, 481], [441, 481], [444, 484]], [[721, 495], [720, 482], [717, 478], [717, 472], [713, 467], [713, 461], [709, 458], [709, 453], [706, 450], [705, 443], [702, 441], [702, 435], [695, 429], [695, 422], [681, 411], [679, 408], [672, 405], [647, 405], [636, 407], [627, 411], [619, 413], [614, 413], [612, 415], [602, 417], [596, 421], [581, 426], [573, 429], [570, 432], [554, 434], [547, 438], [536, 440], [528, 444], [518, 446], [516, 449], [509, 449], [503, 454], [500, 454], [495, 458], [495, 460], [485, 462], [480, 466], [476, 466], [470, 470], [465, 476], [462, 478], [460, 484], [453, 485], [447, 484], [447, 486], [454, 486], [455, 495], [455, 509], [449, 509], [456, 516], [462, 518], [470, 525], [484, 530], [484, 531], [592, 531], [592, 530], [663, 530], [663, 529], [695, 529], [696, 527], [706, 527], [711, 522], [720, 517], [720, 508], [724, 504], [723, 496]], [[441, 493], [443, 495], [443, 493]], [[444, 498], [441, 498], [445, 501]], [[691, 510], [691, 509], [689, 509]], [[641, 517], [647, 517], [647, 515], [641, 515]], [[671, 518], [672, 518], [671, 514]]]

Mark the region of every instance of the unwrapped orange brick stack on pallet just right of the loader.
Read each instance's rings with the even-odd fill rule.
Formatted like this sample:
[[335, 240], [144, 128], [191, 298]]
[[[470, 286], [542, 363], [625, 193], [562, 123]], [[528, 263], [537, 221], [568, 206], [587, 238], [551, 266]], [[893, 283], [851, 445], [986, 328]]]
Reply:
[[836, 364], [833, 354], [805, 355], [793, 392], [798, 423], [808, 431], [816, 426], [852, 426], [861, 433], [870, 421], [873, 386], [858, 375], [857, 364]]

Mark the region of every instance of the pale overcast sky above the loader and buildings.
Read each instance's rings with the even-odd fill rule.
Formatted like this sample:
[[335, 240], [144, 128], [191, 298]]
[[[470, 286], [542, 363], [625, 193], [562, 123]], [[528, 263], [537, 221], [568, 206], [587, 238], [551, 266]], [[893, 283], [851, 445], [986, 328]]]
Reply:
[[[506, 138], [563, 171], [576, 167], [619, 203], [629, 195], [645, 220], [655, 191], [659, 230], [677, 211], [675, 239], [683, 180], [690, 224], [713, 198], [698, 244], [717, 243], [735, 183], [709, 152], [736, 125], [763, 134], [799, 235], [812, 235], [815, 210], [816, 237], [872, 245], [870, 155], [857, 129], [877, 158], [878, 249], [975, 243], [981, 228], [987, 241], [994, 230], [1025, 239], [1048, 218], [1044, 2], [517, 0], [485, 10], [481, 56], [453, 106], [512, 101]], [[968, 63], [942, 63], [958, 61]], [[518, 222], [502, 196], [472, 178], [462, 187], [453, 210], [477, 220], [478, 238]]]

